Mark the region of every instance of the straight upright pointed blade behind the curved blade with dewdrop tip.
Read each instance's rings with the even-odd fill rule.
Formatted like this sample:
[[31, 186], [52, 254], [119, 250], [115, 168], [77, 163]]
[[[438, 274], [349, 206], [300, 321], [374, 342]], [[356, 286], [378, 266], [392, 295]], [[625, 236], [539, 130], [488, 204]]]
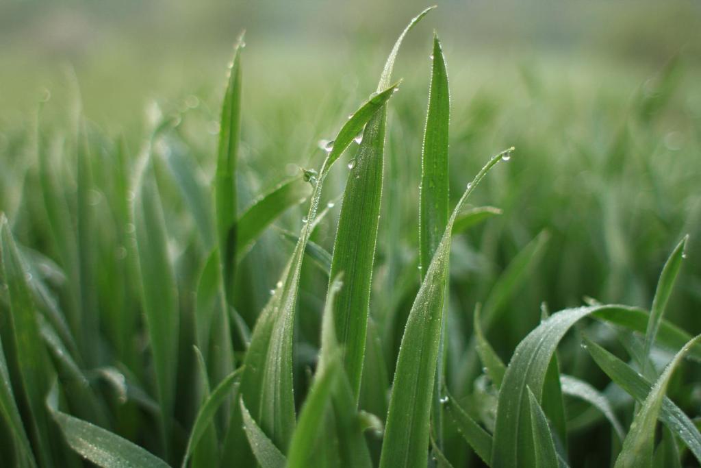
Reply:
[[[419, 187], [418, 240], [419, 267], [428, 269], [441, 241], [449, 216], [448, 128], [450, 123], [450, 90], [445, 57], [438, 35], [433, 34], [431, 53], [431, 82], [428, 92], [426, 128], [423, 132], [421, 154], [421, 185]], [[446, 283], [448, 288], [449, 283]], [[446, 295], [448, 292], [446, 291]], [[445, 380], [446, 322], [440, 333], [438, 366], [433, 389], [432, 424], [439, 448], [443, 443], [443, 410], [440, 403]]]

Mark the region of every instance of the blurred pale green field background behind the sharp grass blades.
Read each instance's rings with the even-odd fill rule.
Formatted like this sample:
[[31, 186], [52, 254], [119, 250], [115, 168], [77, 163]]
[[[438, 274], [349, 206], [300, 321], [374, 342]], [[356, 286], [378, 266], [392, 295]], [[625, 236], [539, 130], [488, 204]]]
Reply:
[[[513, 285], [498, 305], [500, 318], [488, 330], [505, 361], [540, 320], [541, 302], [555, 311], [580, 305], [590, 295], [649, 307], [663, 262], [683, 234], [690, 234], [688, 260], [667, 319], [698, 333], [701, 3], [485, 0], [438, 5], [407, 36], [395, 71], [404, 82], [389, 111], [371, 313], [379, 322], [383, 314], [397, 317], [389, 325], [394, 330], [383, 337], [390, 375], [418, 288], [418, 180], [432, 29], [442, 39], [451, 86], [451, 197], [463, 192], [491, 154], [516, 147], [512, 161], [500, 164], [475, 194], [475, 204], [497, 206], [503, 215], [454, 241], [448, 358], [454, 393], [472, 391], [474, 375], [462, 368], [461, 359], [475, 303], [489, 297], [510, 261], [540, 232], [547, 232], [540, 239], [549, 239], [542, 258]], [[39, 102], [47, 98], [41, 136], [49, 147], [62, 135], [70, 142], [77, 108], [90, 121], [91, 145], [105, 156], [97, 184], [110, 180], [111, 166], [104, 161], [116, 154], [114, 139], [121, 136], [130, 156], [136, 156], [149, 113], [158, 108], [182, 121], [168, 145], [194, 161], [206, 187], [215, 164], [226, 65], [233, 42], [246, 29], [243, 208], [282, 178], [299, 173], [299, 166], [320, 166], [323, 152], [317, 142], [330, 138], [374, 91], [397, 34], [424, 6], [414, 0], [5, 0], [0, 4], [0, 210], [8, 213], [22, 243], [56, 256], [36, 192], [33, 132]], [[72, 154], [70, 144], [57, 146], [62, 147], [57, 153]], [[325, 186], [327, 199], [343, 189], [345, 164], [339, 166]], [[69, 181], [71, 171], [62, 173]], [[179, 285], [191, 293], [206, 253], [177, 188], [163, 174], [170, 247]], [[65, 189], [70, 192], [72, 185]], [[114, 201], [114, 187], [97, 189], [103, 200]], [[105, 232], [123, 229], [97, 208]], [[314, 238], [329, 251], [337, 210]], [[278, 224], [298, 232], [301, 213], [293, 209]], [[111, 231], [104, 239], [111, 246]], [[237, 309], [249, 326], [290, 250], [292, 244], [268, 232], [244, 261]], [[111, 253], [110, 247], [100, 255], [114, 261]], [[105, 287], [103, 302], [109, 302], [111, 286]], [[326, 286], [326, 279], [310, 268], [301, 308], [318, 312]], [[126, 289], [126, 297], [137, 297]], [[308, 347], [318, 341], [318, 314], [302, 316], [300, 361], [313, 355]], [[567, 373], [586, 375], [594, 385], [606, 381], [582, 359], [578, 345], [564, 346], [560, 359]], [[299, 364], [300, 375], [304, 365]], [[679, 394], [680, 406], [697, 414], [701, 394]], [[578, 412], [584, 414], [572, 408], [573, 420]], [[608, 446], [608, 432], [585, 423], [572, 427], [578, 429], [573, 430], [571, 460], [590, 466], [608, 462], [604, 452], [577, 457], [578, 450], [584, 454], [594, 443]]]

